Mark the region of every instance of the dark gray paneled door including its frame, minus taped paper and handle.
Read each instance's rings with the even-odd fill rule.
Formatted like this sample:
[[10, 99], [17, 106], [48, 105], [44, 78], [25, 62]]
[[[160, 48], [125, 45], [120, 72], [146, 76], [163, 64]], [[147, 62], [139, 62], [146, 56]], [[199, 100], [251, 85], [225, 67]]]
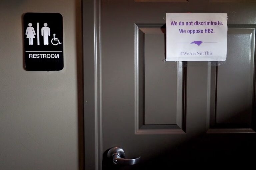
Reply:
[[[83, 10], [87, 168], [252, 162], [256, 3], [95, 0]], [[186, 12], [227, 13], [226, 62], [164, 61], [165, 14]], [[111, 165], [114, 146], [140, 163]]]

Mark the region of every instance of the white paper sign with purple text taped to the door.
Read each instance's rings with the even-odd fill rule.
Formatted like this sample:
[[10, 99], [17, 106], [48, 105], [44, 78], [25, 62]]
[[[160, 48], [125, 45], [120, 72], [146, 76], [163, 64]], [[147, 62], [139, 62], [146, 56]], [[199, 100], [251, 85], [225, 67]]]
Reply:
[[226, 61], [227, 14], [167, 13], [166, 61]]

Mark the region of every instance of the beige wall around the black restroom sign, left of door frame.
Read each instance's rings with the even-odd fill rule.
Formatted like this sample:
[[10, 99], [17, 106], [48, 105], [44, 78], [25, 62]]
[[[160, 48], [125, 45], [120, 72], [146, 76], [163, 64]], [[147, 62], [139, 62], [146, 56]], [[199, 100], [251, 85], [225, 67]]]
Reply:
[[[24, 70], [22, 15], [26, 12], [62, 14], [63, 70]], [[81, 39], [80, 0], [0, 1], [1, 170], [79, 169]]]

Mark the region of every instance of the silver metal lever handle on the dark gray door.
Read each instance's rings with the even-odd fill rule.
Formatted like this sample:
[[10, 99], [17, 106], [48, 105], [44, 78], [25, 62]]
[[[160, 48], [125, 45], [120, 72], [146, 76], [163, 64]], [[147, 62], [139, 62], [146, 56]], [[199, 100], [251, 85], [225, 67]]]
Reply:
[[135, 159], [125, 159], [124, 150], [120, 147], [112, 147], [107, 153], [107, 157], [113, 160], [114, 164], [119, 165], [134, 165], [140, 160], [140, 157]]

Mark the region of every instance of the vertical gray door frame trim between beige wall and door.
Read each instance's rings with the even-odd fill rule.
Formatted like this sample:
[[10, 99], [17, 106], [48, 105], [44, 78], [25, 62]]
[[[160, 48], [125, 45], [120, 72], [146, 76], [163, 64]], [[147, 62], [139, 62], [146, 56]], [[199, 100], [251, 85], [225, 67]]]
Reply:
[[82, 0], [84, 163], [100, 170], [102, 162], [101, 0]]

